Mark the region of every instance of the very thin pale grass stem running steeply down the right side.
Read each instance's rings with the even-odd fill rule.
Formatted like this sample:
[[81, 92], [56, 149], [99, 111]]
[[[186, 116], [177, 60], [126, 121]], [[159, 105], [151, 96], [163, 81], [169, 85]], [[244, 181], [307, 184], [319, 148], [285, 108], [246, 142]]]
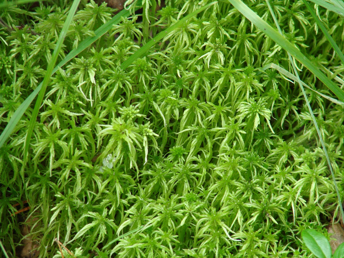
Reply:
[[[278, 24], [278, 21], [276, 19], [276, 16], [275, 16], [275, 13], [273, 12], [271, 6], [270, 6], [270, 3], [269, 3], [269, 0], [265, 0], [267, 5], [268, 5], [268, 8], [271, 12], [271, 15], [273, 17], [273, 20], [275, 21], [275, 24], [278, 28], [278, 31], [280, 32], [280, 34], [282, 35], [282, 30]], [[338, 198], [338, 205], [340, 207], [340, 211], [341, 211], [341, 217], [342, 217], [342, 220], [344, 222], [344, 211], [343, 211], [343, 206], [342, 206], [342, 201], [341, 201], [341, 196], [339, 194], [339, 190], [338, 190], [338, 187], [337, 187], [337, 183], [336, 183], [336, 179], [335, 179], [335, 176], [334, 176], [334, 173], [333, 173], [333, 169], [332, 169], [332, 165], [331, 165], [331, 162], [330, 162], [330, 158], [329, 158], [329, 154], [327, 153], [327, 150], [326, 150], [326, 146], [325, 146], [325, 143], [324, 143], [324, 140], [321, 136], [321, 133], [320, 133], [320, 130], [319, 130], [319, 127], [318, 127], [318, 124], [316, 123], [316, 120], [315, 120], [315, 116], [313, 114], [313, 111], [312, 111], [312, 108], [311, 108], [311, 105], [309, 104], [309, 101], [308, 101], [308, 97], [306, 95], [306, 92], [304, 91], [304, 88], [302, 86], [302, 82], [301, 82], [301, 79], [299, 77], [299, 73], [298, 73], [298, 70], [296, 69], [296, 66], [295, 66], [295, 63], [293, 61], [293, 58], [291, 57], [290, 53], [288, 52], [288, 57], [289, 57], [289, 61], [291, 63], [291, 65], [293, 66], [293, 70], [294, 70], [294, 73], [295, 73], [295, 76], [297, 77], [297, 81], [300, 85], [300, 88], [302, 90], [302, 94], [303, 94], [303, 97], [306, 101], [306, 104], [307, 104], [307, 107], [308, 107], [308, 110], [310, 112], [310, 115], [312, 117], [312, 120], [313, 120], [313, 123], [314, 123], [314, 126], [315, 126], [315, 129], [316, 129], [316, 132], [318, 133], [318, 136], [319, 136], [319, 139], [320, 139], [320, 142], [321, 142], [321, 146], [324, 150], [324, 153], [325, 153], [325, 156], [326, 156], [326, 160], [327, 160], [327, 163], [329, 165], [329, 168], [330, 168], [330, 171], [331, 171], [331, 175], [332, 175], [332, 179], [333, 179], [333, 183], [334, 183], [334, 188], [336, 189], [336, 193], [337, 193], [337, 198]], [[295, 224], [295, 217], [294, 217], [294, 224]]]

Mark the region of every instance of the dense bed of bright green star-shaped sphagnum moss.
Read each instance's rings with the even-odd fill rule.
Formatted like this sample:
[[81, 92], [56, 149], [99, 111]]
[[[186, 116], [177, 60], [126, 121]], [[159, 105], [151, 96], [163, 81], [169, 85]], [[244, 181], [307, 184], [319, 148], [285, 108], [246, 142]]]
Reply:
[[[26, 24], [0, 28], [0, 131], [45, 75], [72, 1], [58, 2], [0, 12], [9, 24]], [[61, 257], [55, 238], [76, 257], [312, 257], [301, 232], [326, 232], [337, 198], [301, 90], [261, 69], [275, 63], [292, 72], [280, 46], [219, 1], [121, 69], [210, 2], [166, 0], [157, 10], [142, 1], [141, 14], [123, 18], [53, 75], [26, 166], [31, 108], [0, 149], [0, 239], [10, 256], [18, 256], [26, 219], [42, 258]], [[265, 1], [246, 4], [273, 24]], [[271, 5], [284, 36], [341, 87], [343, 64], [302, 0]], [[343, 51], [344, 18], [315, 7]], [[113, 11], [80, 4], [59, 58]], [[303, 82], [334, 97], [299, 68]], [[306, 93], [343, 199], [344, 108]], [[11, 216], [26, 200], [30, 211]]]

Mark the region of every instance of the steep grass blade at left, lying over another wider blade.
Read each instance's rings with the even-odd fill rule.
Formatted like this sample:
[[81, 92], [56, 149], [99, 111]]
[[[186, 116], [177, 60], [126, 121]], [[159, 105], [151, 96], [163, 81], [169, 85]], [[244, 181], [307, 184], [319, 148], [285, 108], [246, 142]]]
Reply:
[[44, 76], [44, 79], [43, 79], [43, 82], [42, 82], [42, 88], [41, 88], [40, 93], [39, 93], [39, 95], [37, 97], [35, 107], [34, 107], [34, 109], [32, 111], [32, 116], [31, 116], [31, 120], [30, 120], [30, 123], [29, 123], [28, 132], [27, 132], [26, 138], [25, 138], [23, 168], [25, 167], [26, 161], [28, 160], [28, 151], [29, 151], [29, 146], [30, 146], [30, 139], [31, 139], [33, 127], [34, 127], [35, 122], [36, 122], [36, 118], [38, 116], [39, 109], [40, 109], [40, 107], [42, 105], [42, 101], [43, 101], [43, 98], [44, 98], [46, 87], [48, 86], [48, 83], [50, 81], [50, 77], [51, 77], [51, 74], [53, 72], [53, 69], [54, 69], [54, 66], [55, 66], [58, 54], [60, 53], [60, 50], [61, 50], [61, 47], [62, 47], [62, 43], [63, 43], [63, 41], [64, 41], [64, 39], [65, 39], [65, 37], [67, 35], [67, 31], [68, 31], [69, 25], [71, 25], [71, 22], [72, 22], [72, 19], [74, 17], [74, 14], [76, 12], [76, 9], [79, 6], [79, 2], [80, 2], [80, 0], [74, 0], [73, 1], [72, 7], [69, 10], [69, 13], [67, 15], [67, 19], [66, 19], [66, 21], [65, 21], [65, 23], [63, 25], [62, 30], [61, 30], [61, 34], [58, 37], [58, 40], [57, 40], [57, 43], [56, 43], [56, 47], [55, 47], [54, 52], [52, 54], [51, 60], [50, 60], [50, 62], [48, 64], [48, 67], [46, 69], [46, 73], [45, 73], [45, 76]]

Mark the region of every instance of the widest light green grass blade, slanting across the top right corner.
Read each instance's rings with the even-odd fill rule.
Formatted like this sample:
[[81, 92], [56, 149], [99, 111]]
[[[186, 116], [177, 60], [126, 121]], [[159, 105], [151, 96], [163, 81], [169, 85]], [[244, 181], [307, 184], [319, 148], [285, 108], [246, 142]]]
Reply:
[[268, 37], [280, 45], [284, 50], [291, 54], [301, 64], [309, 69], [316, 77], [318, 77], [342, 102], [344, 102], [344, 92], [335, 85], [329, 78], [322, 73], [300, 50], [286, 40], [280, 33], [273, 29], [267, 22], [261, 19], [255, 12], [246, 6], [240, 0], [228, 0], [233, 6], [241, 12], [248, 20], [264, 32]]

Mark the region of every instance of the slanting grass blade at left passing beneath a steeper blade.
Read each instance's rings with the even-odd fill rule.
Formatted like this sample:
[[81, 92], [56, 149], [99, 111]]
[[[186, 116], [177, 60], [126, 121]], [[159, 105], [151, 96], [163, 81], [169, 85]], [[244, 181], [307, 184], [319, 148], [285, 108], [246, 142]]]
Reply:
[[[69, 60], [71, 60], [77, 54], [84, 51], [88, 46], [93, 44], [96, 40], [98, 40], [101, 36], [103, 36], [106, 32], [108, 32], [112, 28], [112, 25], [118, 24], [121, 20], [121, 17], [128, 17], [129, 14], [130, 12], [128, 10], [123, 9], [118, 14], [116, 14], [111, 20], [101, 25], [95, 31], [96, 35], [94, 37], [87, 37], [84, 41], [80, 42], [78, 47], [76, 49], [73, 49], [71, 52], [69, 52], [66, 55], [66, 57], [63, 58], [63, 60], [53, 69], [51, 75], [53, 75], [58, 70], [58, 68], [65, 65]], [[42, 88], [42, 83], [40, 83], [37, 86], [37, 88], [29, 95], [29, 97], [23, 101], [23, 103], [19, 106], [19, 108], [15, 110], [6, 128], [3, 130], [3, 132], [0, 135], [0, 148], [7, 141], [8, 137], [11, 135], [11, 133], [15, 129], [15, 126], [19, 122], [20, 118], [23, 116], [25, 110], [30, 106], [31, 102], [36, 97], [36, 95], [40, 92], [41, 88]]]

